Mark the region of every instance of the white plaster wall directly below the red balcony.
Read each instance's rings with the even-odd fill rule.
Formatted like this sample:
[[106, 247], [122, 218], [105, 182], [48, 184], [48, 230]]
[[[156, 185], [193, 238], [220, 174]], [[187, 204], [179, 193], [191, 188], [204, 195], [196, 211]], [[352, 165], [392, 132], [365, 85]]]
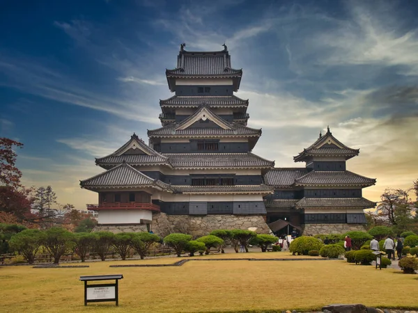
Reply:
[[153, 212], [146, 210], [106, 210], [99, 211], [99, 224], [137, 224], [143, 220], [153, 220]]

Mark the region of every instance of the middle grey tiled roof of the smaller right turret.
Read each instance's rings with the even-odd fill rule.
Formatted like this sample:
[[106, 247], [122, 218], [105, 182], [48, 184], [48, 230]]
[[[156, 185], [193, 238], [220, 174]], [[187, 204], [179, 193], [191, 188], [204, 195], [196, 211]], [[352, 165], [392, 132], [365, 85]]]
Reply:
[[376, 184], [376, 179], [357, 175], [348, 170], [343, 171], [316, 171], [312, 170], [307, 175], [295, 179], [296, 185], [302, 186], [371, 186]]

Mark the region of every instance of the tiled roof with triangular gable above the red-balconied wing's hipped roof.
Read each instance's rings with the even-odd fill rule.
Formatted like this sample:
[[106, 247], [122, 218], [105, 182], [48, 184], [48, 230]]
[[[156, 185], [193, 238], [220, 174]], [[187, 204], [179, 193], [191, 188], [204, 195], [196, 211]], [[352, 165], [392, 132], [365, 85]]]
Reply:
[[[127, 150], [134, 150], [138, 152], [135, 154], [125, 154]], [[125, 145], [120, 147], [114, 153], [109, 154], [107, 157], [95, 159], [95, 163], [99, 166], [109, 167], [126, 161], [132, 165], [157, 165], [167, 164], [167, 157], [156, 152], [150, 148], [144, 141], [141, 140], [136, 134], [133, 134], [130, 141], [127, 141]]]

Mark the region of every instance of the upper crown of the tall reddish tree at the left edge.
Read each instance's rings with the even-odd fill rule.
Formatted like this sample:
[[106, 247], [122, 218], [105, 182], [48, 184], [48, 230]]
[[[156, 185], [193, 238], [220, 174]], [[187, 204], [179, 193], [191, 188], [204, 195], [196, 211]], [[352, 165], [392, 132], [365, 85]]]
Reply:
[[9, 138], [0, 138], [0, 183], [4, 186], [17, 188], [20, 186], [22, 172], [15, 166], [17, 153], [13, 147], [23, 147], [23, 143]]

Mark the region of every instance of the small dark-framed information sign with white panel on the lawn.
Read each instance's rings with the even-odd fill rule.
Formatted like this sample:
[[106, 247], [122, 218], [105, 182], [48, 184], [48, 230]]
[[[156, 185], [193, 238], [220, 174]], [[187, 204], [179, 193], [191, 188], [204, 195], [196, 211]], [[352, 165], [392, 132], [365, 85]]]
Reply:
[[[118, 280], [121, 280], [123, 275], [95, 275], [95, 276], [80, 276], [84, 282], [84, 305], [89, 302], [107, 302], [115, 301], [119, 305]], [[87, 284], [98, 280], [115, 280], [115, 282], [107, 282], [103, 284]]]

